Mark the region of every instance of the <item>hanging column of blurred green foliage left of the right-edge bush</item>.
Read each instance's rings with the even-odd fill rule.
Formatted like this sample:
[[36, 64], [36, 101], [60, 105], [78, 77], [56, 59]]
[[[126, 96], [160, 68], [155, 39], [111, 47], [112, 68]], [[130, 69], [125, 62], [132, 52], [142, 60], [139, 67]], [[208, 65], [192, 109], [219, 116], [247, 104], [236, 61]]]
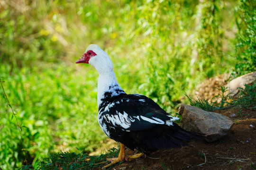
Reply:
[[222, 0], [204, 0], [198, 5], [197, 17], [200, 17], [197, 39], [198, 59], [207, 77], [215, 75], [216, 66], [223, 61], [223, 29], [220, 26]]

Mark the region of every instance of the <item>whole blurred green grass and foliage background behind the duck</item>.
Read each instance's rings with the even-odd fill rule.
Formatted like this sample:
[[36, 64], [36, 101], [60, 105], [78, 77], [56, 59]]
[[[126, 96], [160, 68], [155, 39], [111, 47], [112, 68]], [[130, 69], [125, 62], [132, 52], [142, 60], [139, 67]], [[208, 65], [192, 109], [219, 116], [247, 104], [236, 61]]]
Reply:
[[[105, 149], [98, 73], [74, 63], [89, 44], [109, 54], [127, 93], [175, 115], [205, 78], [255, 71], [255, 14], [256, 0], [0, 0], [0, 78], [28, 163]], [[20, 168], [22, 148], [1, 95], [0, 168]]]

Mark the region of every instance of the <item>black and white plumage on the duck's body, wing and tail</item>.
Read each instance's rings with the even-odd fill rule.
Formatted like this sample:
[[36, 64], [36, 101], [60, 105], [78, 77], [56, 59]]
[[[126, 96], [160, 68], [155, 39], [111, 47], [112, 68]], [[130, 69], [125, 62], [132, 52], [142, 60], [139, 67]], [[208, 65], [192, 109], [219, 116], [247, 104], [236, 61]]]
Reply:
[[146, 154], [186, 145], [194, 136], [173, 122], [177, 119], [146, 96], [126, 93], [103, 100], [98, 115], [107, 136]]

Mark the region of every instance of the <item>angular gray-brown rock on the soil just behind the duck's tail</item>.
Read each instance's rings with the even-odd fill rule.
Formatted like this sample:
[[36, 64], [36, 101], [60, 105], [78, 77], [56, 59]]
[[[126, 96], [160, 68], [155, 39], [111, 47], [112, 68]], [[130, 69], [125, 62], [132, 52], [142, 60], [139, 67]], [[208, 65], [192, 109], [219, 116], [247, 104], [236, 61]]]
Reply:
[[227, 116], [208, 112], [195, 106], [181, 104], [181, 127], [194, 133], [203, 134], [208, 142], [213, 142], [227, 135], [234, 122]]

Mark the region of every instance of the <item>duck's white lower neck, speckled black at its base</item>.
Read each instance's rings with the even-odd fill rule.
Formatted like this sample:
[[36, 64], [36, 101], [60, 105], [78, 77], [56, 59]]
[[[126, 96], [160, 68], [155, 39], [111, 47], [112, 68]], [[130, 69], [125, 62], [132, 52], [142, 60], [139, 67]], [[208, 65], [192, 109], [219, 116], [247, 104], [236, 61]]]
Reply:
[[106, 102], [111, 97], [121, 93], [125, 92], [118, 84], [114, 71], [100, 73], [97, 93], [98, 108], [100, 108], [102, 102]]

